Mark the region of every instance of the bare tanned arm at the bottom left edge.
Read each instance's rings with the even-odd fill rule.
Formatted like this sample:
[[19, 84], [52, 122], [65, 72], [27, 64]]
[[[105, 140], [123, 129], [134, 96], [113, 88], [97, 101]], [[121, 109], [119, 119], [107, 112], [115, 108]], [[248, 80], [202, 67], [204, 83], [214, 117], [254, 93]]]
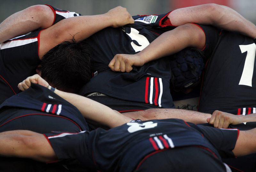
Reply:
[[0, 154], [8, 157], [30, 158], [42, 162], [57, 160], [52, 146], [44, 135], [27, 130], [1, 132]]

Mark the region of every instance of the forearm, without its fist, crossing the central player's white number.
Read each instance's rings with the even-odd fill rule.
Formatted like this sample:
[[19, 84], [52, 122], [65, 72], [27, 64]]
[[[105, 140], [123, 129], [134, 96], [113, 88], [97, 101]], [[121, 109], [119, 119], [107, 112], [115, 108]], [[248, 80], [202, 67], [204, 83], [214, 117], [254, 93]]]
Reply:
[[204, 45], [204, 32], [196, 25], [186, 24], [160, 35], [137, 55], [147, 63], [187, 47], [202, 49]]

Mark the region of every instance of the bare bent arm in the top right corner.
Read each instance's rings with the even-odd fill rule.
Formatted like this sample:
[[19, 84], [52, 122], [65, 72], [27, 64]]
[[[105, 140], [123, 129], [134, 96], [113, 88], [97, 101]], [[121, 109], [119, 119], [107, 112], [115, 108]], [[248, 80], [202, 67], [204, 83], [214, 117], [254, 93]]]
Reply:
[[186, 23], [213, 25], [256, 38], [256, 26], [235, 10], [224, 5], [204, 4], [180, 8], [172, 11], [168, 17], [174, 26]]

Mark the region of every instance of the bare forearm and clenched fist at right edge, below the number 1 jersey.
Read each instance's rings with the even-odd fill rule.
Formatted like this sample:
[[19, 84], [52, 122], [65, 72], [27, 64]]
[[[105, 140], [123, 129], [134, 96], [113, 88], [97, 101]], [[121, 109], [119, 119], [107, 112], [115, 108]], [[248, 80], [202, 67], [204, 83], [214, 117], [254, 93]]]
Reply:
[[207, 122], [212, 124], [215, 128], [228, 128], [230, 124], [255, 122], [256, 114], [249, 115], [233, 115], [226, 112], [215, 110], [212, 113], [211, 118], [207, 119]]

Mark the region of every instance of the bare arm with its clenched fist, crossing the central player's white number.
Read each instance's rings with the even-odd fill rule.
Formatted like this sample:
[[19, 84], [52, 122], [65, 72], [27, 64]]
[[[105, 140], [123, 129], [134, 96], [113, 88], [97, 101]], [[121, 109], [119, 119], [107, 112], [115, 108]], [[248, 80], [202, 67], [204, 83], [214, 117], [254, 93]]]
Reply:
[[149, 61], [179, 52], [186, 47], [203, 49], [205, 34], [194, 24], [185, 24], [161, 34], [145, 49], [134, 55], [117, 54], [108, 64], [112, 71], [129, 72], [132, 66], [142, 66]]

